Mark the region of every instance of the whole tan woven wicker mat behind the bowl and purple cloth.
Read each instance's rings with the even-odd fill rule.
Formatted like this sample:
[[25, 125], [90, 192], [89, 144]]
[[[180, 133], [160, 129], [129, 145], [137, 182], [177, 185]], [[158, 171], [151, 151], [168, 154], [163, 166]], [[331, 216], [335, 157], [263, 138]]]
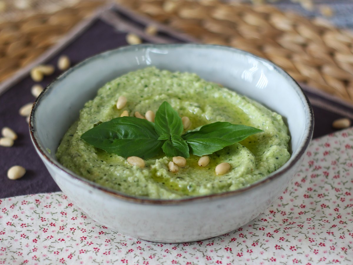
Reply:
[[[82, 1], [55, 14], [0, 24], [0, 82], [52, 45], [104, 1]], [[196, 37], [268, 58], [295, 80], [353, 102], [353, 34], [271, 5], [217, 0], [117, 0]]]

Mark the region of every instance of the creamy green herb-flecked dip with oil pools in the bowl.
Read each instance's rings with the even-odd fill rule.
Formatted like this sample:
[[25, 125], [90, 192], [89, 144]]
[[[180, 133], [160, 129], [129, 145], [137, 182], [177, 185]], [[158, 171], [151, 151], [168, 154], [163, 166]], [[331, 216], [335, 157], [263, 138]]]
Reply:
[[[121, 96], [127, 103], [119, 110], [116, 103]], [[190, 153], [186, 165], [178, 167], [177, 172], [170, 163], [172, 157], [162, 152], [143, 160], [145, 165], [140, 167], [140, 164], [131, 165], [131, 159], [129, 163], [126, 158], [95, 148], [80, 138], [94, 124], [108, 122], [123, 113], [130, 116], [136, 112], [156, 113], [164, 101], [180, 117], [190, 119], [189, 129], [229, 122], [263, 132], [208, 155], [207, 166], [199, 166], [200, 157]], [[127, 73], [100, 88], [64, 135], [56, 157], [78, 175], [125, 194], [178, 199], [227, 192], [264, 178], [288, 161], [288, 143], [288, 128], [282, 117], [261, 104], [193, 73], [148, 67]], [[222, 163], [228, 163], [230, 168], [217, 175], [215, 168]]]

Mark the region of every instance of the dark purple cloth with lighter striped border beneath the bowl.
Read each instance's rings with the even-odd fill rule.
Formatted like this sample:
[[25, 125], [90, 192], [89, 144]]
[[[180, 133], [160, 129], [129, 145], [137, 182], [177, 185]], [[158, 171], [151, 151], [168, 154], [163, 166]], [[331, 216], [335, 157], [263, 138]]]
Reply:
[[[91, 55], [125, 46], [127, 45], [125, 41], [126, 30], [139, 34], [145, 38], [145, 42], [195, 41], [184, 34], [175, 33], [173, 30], [159, 24], [157, 26], [160, 28], [160, 33], [157, 36], [146, 36], [143, 29], [145, 25], [150, 23], [152, 23], [150, 20], [135, 16], [130, 11], [120, 7], [105, 11], [92, 18], [84, 29], [76, 29], [78, 32], [74, 38], [68, 40], [65, 46], [53, 52], [44, 62], [55, 65], [59, 55], [66, 54], [72, 60], [72, 64], [75, 64]], [[56, 71], [53, 75], [45, 77], [41, 84], [47, 86], [59, 74], [60, 72]], [[0, 147], [0, 198], [59, 191], [59, 187], [50, 177], [31, 144], [28, 123], [25, 118], [18, 114], [21, 106], [35, 100], [30, 92], [34, 83], [29, 75], [26, 74], [23, 78], [13, 82], [11, 87], [0, 95], [0, 128], [9, 126], [18, 133], [18, 140], [15, 141], [13, 147]], [[315, 115], [314, 137], [333, 132], [334, 130], [331, 128], [333, 120], [353, 113], [353, 108], [349, 104], [344, 104], [340, 100], [334, 101], [325, 94], [319, 95], [315, 91], [311, 91], [310, 88], [307, 88], [306, 92], [313, 102]], [[55, 115], [55, 113], [49, 114]], [[7, 169], [13, 165], [24, 166], [27, 170], [25, 177], [17, 181], [7, 179]]]

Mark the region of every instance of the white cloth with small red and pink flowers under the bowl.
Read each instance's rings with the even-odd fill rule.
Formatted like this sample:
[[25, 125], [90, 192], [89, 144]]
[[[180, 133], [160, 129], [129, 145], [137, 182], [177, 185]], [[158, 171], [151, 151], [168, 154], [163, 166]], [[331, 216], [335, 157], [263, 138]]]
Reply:
[[109, 230], [61, 192], [0, 200], [0, 264], [353, 264], [353, 128], [316, 139], [289, 187], [243, 227], [154, 243]]

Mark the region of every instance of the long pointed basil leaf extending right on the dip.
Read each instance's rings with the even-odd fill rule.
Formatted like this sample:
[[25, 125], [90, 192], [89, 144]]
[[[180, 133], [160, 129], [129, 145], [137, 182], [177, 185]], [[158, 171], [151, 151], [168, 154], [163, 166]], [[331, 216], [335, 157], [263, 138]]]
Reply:
[[212, 154], [222, 148], [240, 142], [250, 135], [262, 132], [260, 129], [229, 122], [215, 122], [204, 125], [183, 135], [194, 155]]

